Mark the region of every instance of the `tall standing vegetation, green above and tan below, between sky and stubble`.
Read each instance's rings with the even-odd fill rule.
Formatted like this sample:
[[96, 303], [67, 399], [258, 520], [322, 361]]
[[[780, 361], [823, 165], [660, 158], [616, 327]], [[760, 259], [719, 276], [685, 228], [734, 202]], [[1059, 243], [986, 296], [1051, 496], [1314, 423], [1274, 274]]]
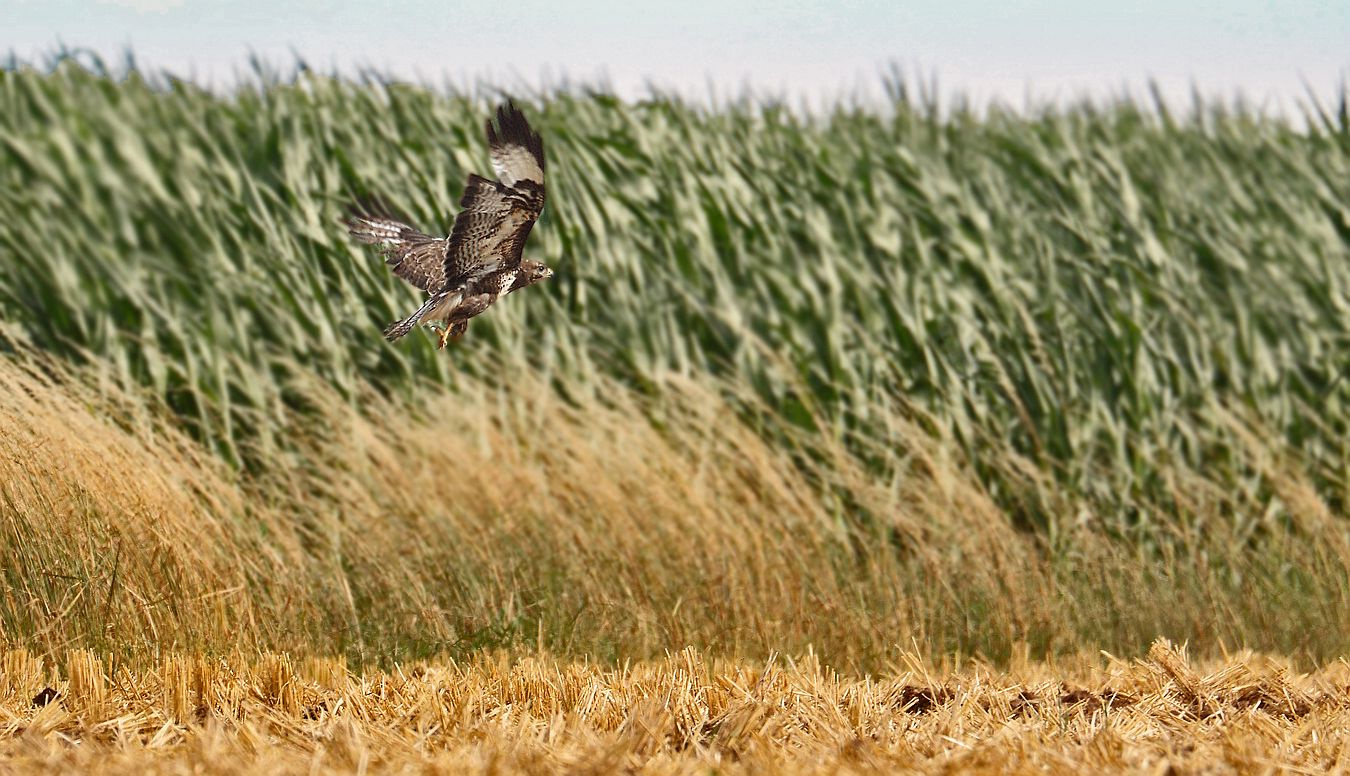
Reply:
[[338, 217], [498, 94], [0, 70], [8, 645], [1350, 646], [1345, 100], [516, 97], [556, 275], [437, 354]]

